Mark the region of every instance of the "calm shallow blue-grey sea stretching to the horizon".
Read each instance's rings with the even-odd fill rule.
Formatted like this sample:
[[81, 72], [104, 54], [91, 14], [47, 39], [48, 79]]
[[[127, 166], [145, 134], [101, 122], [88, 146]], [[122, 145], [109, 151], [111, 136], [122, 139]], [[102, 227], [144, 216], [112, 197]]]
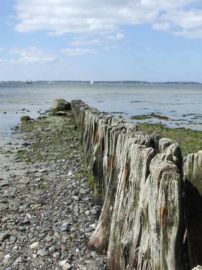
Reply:
[[[51, 109], [55, 97], [81, 99], [101, 112], [122, 116], [126, 122], [161, 122], [169, 128], [202, 130], [202, 85], [198, 84], [1, 83], [1, 144], [15, 136], [13, 128], [20, 125], [21, 116], [36, 119]], [[131, 119], [151, 113], [169, 120]]]

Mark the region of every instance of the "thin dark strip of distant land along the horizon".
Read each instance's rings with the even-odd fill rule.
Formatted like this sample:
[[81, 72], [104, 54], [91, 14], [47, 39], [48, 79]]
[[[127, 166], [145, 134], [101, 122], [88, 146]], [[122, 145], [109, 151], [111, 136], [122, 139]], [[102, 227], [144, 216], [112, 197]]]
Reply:
[[[33, 83], [90, 83], [91, 81], [33, 81]], [[25, 83], [21, 81], [0, 81], [1, 83]], [[145, 81], [94, 81], [93, 83], [134, 83], [134, 84], [202, 84], [201, 82], [145, 82]]]

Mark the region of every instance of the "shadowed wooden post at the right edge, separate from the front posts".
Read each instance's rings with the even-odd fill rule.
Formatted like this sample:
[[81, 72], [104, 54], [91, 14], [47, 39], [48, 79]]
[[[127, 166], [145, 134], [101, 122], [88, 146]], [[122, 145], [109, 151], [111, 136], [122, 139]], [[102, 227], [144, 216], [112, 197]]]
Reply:
[[202, 151], [184, 164], [185, 218], [191, 268], [202, 265]]

